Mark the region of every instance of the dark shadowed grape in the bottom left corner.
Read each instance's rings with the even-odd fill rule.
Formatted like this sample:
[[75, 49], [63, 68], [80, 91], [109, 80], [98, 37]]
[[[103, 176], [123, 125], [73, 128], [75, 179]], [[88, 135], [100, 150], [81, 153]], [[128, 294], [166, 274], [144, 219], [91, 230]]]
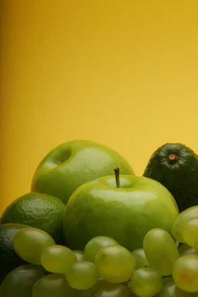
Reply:
[[10, 271], [0, 286], [0, 297], [32, 297], [34, 284], [44, 276], [41, 266], [26, 264]]

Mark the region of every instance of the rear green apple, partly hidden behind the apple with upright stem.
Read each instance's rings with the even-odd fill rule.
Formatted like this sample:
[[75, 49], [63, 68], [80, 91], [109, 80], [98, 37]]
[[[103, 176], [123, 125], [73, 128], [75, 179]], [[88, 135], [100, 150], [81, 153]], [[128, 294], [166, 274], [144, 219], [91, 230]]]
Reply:
[[92, 141], [70, 141], [44, 157], [34, 173], [31, 192], [56, 196], [66, 204], [79, 186], [113, 174], [114, 167], [134, 175], [128, 161], [113, 149]]

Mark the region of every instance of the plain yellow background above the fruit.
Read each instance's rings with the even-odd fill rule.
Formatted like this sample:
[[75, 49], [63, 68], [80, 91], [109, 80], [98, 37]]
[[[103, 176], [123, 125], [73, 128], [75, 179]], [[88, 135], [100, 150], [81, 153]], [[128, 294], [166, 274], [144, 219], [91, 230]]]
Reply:
[[44, 155], [89, 139], [142, 175], [152, 152], [198, 152], [197, 0], [2, 0], [0, 212]]

